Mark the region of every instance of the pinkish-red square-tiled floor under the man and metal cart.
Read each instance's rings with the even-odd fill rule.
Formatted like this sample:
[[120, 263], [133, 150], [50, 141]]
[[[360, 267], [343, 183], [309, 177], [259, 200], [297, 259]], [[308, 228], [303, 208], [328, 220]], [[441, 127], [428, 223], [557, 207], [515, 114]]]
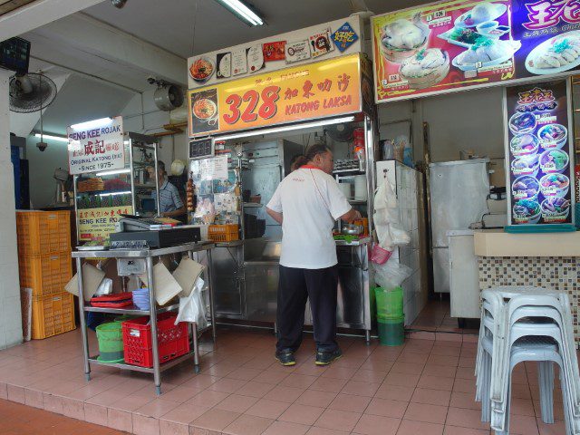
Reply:
[[[215, 349], [203, 344], [202, 372], [190, 362], [166, 372], [156, 397], [140, 373], [97, 366], [85, 382], [75, 331], [0, 352], [0, 399], [143, 435], [489, 433], [473, 401], [476, 343], [411, 339], [389, 348], [343, 338], [343, 358], [327, 368], [314, 365], [310, 335], [292, 368], [274, 361], [274, 343], [270, 333], [219, 330]], [[512, 434], [564, 435], [561, 420], [536, 418], [533, 365], [517, 368], [513, 391]]]

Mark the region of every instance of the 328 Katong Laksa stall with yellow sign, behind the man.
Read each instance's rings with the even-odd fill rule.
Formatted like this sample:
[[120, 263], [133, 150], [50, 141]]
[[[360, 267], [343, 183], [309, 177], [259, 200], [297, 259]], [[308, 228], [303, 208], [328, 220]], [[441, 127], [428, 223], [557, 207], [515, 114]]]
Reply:
[[361, 33], [352, 16], [189, 59], [189, 218], [217, 243], [221, 322], [275, 323], [282, 231], [266, 204], [292, 158], [324, 140], [341, 189], [368, 218], [363, 234], [335, 237], [338, 326], [370, 337], [376, 121]]

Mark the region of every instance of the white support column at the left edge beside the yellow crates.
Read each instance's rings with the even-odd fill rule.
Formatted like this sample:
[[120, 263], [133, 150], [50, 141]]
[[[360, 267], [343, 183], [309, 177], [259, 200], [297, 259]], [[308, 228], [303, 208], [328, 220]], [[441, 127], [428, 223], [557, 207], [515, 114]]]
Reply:
[[8, 108], [8, 80], [13, 74], [0, 69], [0, 349], [23, 340]]

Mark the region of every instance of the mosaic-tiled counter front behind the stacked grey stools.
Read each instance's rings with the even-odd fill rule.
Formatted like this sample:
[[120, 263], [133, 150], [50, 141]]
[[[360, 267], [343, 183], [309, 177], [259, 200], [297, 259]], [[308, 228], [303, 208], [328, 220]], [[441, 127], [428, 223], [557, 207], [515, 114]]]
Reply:
[[479, 286], [532, 285], [565, 292], [570, 297], [576, 346], [580, 345], [579, 257], [479, 257]]

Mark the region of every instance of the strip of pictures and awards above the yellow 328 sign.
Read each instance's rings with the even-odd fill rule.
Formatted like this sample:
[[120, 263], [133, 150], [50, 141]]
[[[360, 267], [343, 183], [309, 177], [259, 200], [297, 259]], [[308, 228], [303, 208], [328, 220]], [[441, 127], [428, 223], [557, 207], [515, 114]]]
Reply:
[[353, 15], [190, 57], [188, 87], [201, 88], [360, 52], [361, 18]]

